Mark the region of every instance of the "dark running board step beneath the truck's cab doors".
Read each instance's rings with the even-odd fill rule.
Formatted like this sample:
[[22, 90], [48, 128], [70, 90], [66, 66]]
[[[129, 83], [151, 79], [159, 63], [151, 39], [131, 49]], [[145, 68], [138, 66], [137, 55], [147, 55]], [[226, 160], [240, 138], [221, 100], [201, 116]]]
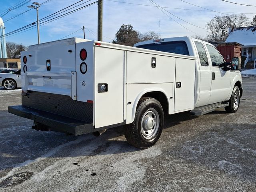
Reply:
[[226, 106], [229, 106], [228, 102], [214, 103], [214, 104], [210, 104], [210, 105], [196, 107], [190, 111], [190, 114], [191, 115], [204, 115], [206, 113], [210, 113], [210, 112], [214, 111], [216, 108], [226, 107]]

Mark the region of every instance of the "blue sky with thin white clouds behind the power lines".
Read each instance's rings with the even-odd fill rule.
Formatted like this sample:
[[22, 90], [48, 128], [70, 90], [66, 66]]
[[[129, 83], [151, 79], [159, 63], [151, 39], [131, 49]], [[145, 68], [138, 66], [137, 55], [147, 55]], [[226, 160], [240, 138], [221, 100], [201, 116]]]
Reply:
[[[37, 0], [38, 3], [43, 3], [46, 0]], [[42, 4], [39, 8], [39, 19], [42, 19], [58, 10], [61, 10], [79, 0], [50, 0]], [[79, 4], [86, 2], [87, 0], [81, 1]], [[86, 4], [94, 2], [96, 0], [91, 0]], [[207, 30], [205, 24], [218, 15], [217, 12], [226, 12], [226, 14], [232, 13], [246, 13], [246, 16], [250, 19], [256, 14], [256, 1], [255, 0], [229, 0], [230, 2], [245, 3], [253, 6], [242, 6], [237, 4], [231, 4], [224, 2], [222, 0], [153, 0], [159, 6], [168, 7], [164, 8], [168, 12], [152, 6], [149, 0], [104, 0], [103, 6], [103, 41], [112, 42], [115, 38], [115, 34], [122, 24], [131, 24], [134, 30], [138, 30], [141, 33], [147, 32], [148, 30], [153, 30], [159, 33], [159, 20], [160, 20], [160, 31], [161, 38], [175, 37], [175, 36], [192, 36], [199, 34], [203, 37], [207, 36]], [[22, 2], [22, 0], [0, 0], [0, 13], [4, 12], [8, 8]], [[4, 24], [6, 27], [6, 33], [36, 22], [36, 10], [28, 8], [34, 0], [28, 2], [24, 6], [11, 10], [6, 15], [2, 16]], [[126, 2], [126, 3], [124, 3]], [[189, 2], [191, 4], [188, 4]], [[132, 3], [132, 4], [128, 4]], [[137, 5], [144, 4], [144, 5]], [[196, 6], [194, 6], [194, 5]], [[145, 6], [148, 5], [148, 6]], [[217, 12], [211, 12], [200, 7], [215, 10]], [[184, 10], [190, 9], [190, 10]], [[12, 19], [7, 22], [9, 18], [16, 16], [26, 10], [28, 12]], [[167, 14], [167, 15], [166, 15]], [[188, 24], [182, 20], [189, 22]], [[175, 22], [174, 20], [177, 22]], [[37, 28], [22, 32], [15, 35], [10, 35], [6, 37], [6, 41], [15, 42], [18, 44], [23, 44], [25, 46], [37, 44]], [[97, 4], [84, 8], [78, 12], [49, 22], [40, 26], [40, 42], [48, 42], [58, 40], [67, 36], [75, 31], [74, 34], [67, 36], [69, 37], [79, 37], [83, 38], [83, 31], [79, 30], [85, 26], [86, 39], [96, 40], [97, 39]], [[199, 28], [201, 27], [201, 28]]]

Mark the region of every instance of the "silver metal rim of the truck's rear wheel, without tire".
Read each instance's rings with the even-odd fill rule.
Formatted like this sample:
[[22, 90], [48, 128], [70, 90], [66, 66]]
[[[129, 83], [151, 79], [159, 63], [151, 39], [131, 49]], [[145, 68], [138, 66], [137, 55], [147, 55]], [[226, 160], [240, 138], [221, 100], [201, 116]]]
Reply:
[[160, 124], [160, 118], [157, 110], [150, 108], [142, 116], [140, 129], [145, 139], [151, 139], [156, 136]]

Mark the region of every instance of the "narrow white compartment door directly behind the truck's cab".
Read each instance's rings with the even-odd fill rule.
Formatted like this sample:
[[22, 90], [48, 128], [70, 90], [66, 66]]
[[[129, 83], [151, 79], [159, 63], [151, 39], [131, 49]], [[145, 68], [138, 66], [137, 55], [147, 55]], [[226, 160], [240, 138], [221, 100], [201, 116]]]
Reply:
[[176, 58], [174, 112], [194, 108], [196, 60]]

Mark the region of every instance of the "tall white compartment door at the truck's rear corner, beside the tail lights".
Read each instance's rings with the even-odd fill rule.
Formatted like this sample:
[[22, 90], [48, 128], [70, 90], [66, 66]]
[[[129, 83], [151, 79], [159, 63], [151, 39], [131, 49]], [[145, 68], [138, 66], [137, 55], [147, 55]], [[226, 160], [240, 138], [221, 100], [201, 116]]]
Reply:
[[124, 51], [95, 46], [94, 90], [95, 128], [124, 122]]

